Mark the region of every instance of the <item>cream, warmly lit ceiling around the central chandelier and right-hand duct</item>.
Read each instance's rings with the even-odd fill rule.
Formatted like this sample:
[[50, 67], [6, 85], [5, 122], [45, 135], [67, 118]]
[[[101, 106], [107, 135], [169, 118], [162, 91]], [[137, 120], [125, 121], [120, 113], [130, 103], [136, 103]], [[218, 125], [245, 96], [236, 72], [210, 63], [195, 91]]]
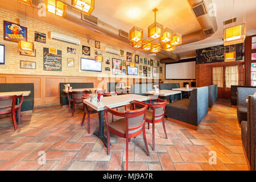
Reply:
[[[181, 57], [195, 56], [195, 50], [204, 47], [222, 44], [223, 22], [232, 18], [233, 0], [212, 0], [216, 4], [217, 32], [210, 38], [199, 42], [178, 46], [174, 53]], [[237, 24], [246, 20], [246, 36], [256, 34], [256, 1], [234, 1], [234, 17]], [[129, 32], [133, 26], [144, 29], [144, 38], [147, 36], [147, 27], [154, 22], [152, 9], [159, 9], [156, 21], [179, 32], [181, 35], [189, 34], [201, 29], [187, 0], [96, 0], [95, 9], [92, 13], [98, 19], [116, 28]]]

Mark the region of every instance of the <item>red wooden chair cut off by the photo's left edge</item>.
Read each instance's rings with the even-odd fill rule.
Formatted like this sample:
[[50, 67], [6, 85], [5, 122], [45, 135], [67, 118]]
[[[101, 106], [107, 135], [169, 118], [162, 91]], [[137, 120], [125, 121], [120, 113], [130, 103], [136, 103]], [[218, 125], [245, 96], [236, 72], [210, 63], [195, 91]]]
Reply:
[[[15, 105], [16, 99], [20, 98], [20, 104]], [[3, 96], [0, 97], [0, 114], [9, 114], [13, 118], [14, 130], [17, 130], [17, 123], [15, 118], [15, 111], [18, 111], [18, 121], [20, 122], [20, 106], [23, 102], [23, 96]]]

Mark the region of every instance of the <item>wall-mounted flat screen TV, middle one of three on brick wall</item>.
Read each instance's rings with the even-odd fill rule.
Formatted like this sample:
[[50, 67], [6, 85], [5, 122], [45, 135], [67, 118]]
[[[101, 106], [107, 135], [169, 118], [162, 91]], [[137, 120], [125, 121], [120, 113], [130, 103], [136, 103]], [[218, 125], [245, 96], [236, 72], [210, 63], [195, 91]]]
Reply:
[[81, 70], [92, 71], [92, 72], [101, 72], [102, 71], [102, 63], [101, 63], [101, 61], [96, 61], [93, 59], [81, 58]]

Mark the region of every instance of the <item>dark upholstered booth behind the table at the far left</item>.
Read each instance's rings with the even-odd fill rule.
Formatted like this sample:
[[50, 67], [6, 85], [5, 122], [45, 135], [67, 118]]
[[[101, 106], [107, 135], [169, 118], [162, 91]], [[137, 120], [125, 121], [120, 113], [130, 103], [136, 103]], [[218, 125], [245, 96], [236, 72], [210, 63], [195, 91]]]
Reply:
[[0, 92], [30, 91], [29, 96], [24, 96], [20, 111], [34, 109], [34, 84], [0, 84]]

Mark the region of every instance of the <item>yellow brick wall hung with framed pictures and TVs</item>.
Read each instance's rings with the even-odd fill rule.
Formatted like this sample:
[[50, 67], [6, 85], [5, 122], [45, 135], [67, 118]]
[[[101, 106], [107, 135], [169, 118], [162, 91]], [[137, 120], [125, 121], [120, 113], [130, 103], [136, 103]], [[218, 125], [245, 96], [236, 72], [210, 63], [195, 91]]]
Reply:
[[[35, 36], [35, 31], [41, 32], [47, 35], [47, 40], [46, 44], [39, 43], [39, 42], [34, 42], [34, 46], [36, 49], [36, 57], [31, 57], [31, 56], [23, 56], [20, 55], [18, 51], [18, 43], [15, 42], [10, 42], [7, 40], [3, 40], [3, 20], [12, 22], [12, 23], [19, 23], [19, 15], [16, 13], [13, 13], [12, 11], [5, 10], [5, 9], [0, 9], [0, 44], [5, 45], [5, 64], [0, 65], [0, 73], [9, 73], [9, 74], [31, 74], [31, 75], [57, 75], [57, 76], [88, 76], [88, 77], [121, 77], [121, 78], [147, 78], [147, 77], [139, 77], [138, 76], [115, 76], [112, 75], [112, 58], [116, 59], [121, 59], [121, 60], [126, 60], [126, 52], [131, 52], [133, 53], [133, 62], [134, 62], [134, 56], [135, 54], [138, 54], [139, 57], [141, 58], [147, 58], [147, 60], [154, 59], [154, 67], [157, 67], [157, 61], [155, 60], [155, 57], [149, 57], [148, 52], [145, 52], [144, 54], [138, 53], [136, 49], [131, 48], [128, 44], [127, 46], [119, 47], [118, 44], [111, 44], [106, 42], [106, 40], [109, 39], [108, 36], [106, 35], [97, 35], [92, 37], [91, 35], [88, 35], [85, 33], [85, 35], [82, 34], [77, 34], [76, 32], [70, 32], [68, 30], [61, 29], [59, 27], [56, 27], [52, 24], [44, 23], [41, 22], [38, 19], [32, 19], [32, 18], [26, 18], [27, 19], [27, 40], [30, 42], [34, 42], [34, 36]], [[69, 44], [65, 42], [61, 42], [58, 40], [53, 40], [50, 38], [50, 32], [51, 31], [56, 31], [60, 32], [61, 34], [64, 35], [69, 35], [74, 38], [80, 39], [80, 46], [75, 45], [75, 44]], [[91, 30], [88, 29], [88, 32], [92, 32]], [[94, 33], [95, 34], [95, 33]], [[91, 37], [88, 37], [91, 36]], [[105, 42], [101, 42], [104, 40]], [[89, 39], [97, 40], [101, 42], [101, 49], [100, 51], [103, 52], [103, 57], [104, 61], [102, 64], [102, 72], [89, 72], [89, 71], [80, 71], [80, 59], [81, 57], [89, 58], [89, 59], [94, 59], [94, 46], [90, 46], [88, 44]], [[122, 49], [125, 51], [125, 56], [124, 57], [119, 57], [118, 55], [113, 55], [111, 53], [106, 53], [105, 51], [105, 46], [113, 46], [114, 48]], [[90, 56], [84, 56], [82, 55], [82, 46], [89, 46], [91, 49]], [[62, 51], [62, 71], [44, 71], [43, 70], [43, 47], [53, 47], [57, 48]], [[76, 48], [76, 55], [72, 55], [67, 53], [67, 47], [72, 47]], [[137, 51], [137, 52], [136, 52]], [[110, 59], [110, 65], [105, 65], [105, 59], [106, 58]], [[67, 58], [73, 58], [75, 59], [75, 67], [68, 67], [67, 66]], [[20, 60], [26, 60], [26, 61], [36, 61], [36, 69], [22, 69], [20, 68]], [[129, 64], [130, 62], [126, 62], [126, 64]], [[144, 60], [143, 60], [144, 63]], [[144, 64], [137, 64], [136, 66], [138, 67], [138, 72], [139, 71], [139, 65], [144, 65]], [[105, 72], [105, 67], [110, 67], [110, 72]], [[147, 65], [148, 67], [148, 65]], [[163, 68], [163, 74], [159, 74], [159, 78], [163, 79], [164, 77], [164, 65], [160, 64], [160, 67]], [[122, 69], [126, 69], [126, 67], [122, 67]], [[159, 67], [158, 73], [159, 73]], [[152, 78], [152, 67], [151, 71], [148, 72], [151, 74]]]

